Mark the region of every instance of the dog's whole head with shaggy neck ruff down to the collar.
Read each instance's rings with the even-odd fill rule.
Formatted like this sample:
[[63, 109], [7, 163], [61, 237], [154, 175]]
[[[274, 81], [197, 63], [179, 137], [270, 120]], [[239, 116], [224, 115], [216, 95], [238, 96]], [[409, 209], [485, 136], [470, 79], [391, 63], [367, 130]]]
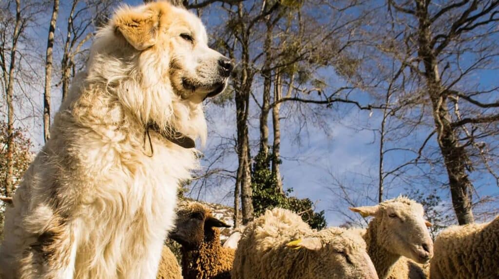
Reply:
[[160, 1], [118, 9], [96, 36], [89, 68], [144, 124], [199, 136], [201, 102], [224, 90], [233, 64], [208, 47], [197, 16]]

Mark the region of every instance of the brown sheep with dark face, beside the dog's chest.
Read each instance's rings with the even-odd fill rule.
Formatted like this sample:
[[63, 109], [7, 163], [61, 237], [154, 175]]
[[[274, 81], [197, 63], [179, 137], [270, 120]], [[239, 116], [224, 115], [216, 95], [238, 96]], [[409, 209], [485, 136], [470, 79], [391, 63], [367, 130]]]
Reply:
[[230, 227], [215, 218], [200, 203], [181, 205], [170, 238], [182, 248], [184, 279], [230, 279], [234, 249], [223, 248], [220, 227]]

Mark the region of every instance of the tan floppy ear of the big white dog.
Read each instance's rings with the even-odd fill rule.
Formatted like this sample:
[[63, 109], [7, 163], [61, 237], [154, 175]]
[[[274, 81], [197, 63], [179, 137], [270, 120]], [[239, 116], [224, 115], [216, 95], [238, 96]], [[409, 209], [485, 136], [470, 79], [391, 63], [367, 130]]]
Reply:
[[158, 10], [150, 9], [137, 12], [130, 9], [120, 10], [114, 18], [116, 32], [137, 50], [144, 50], [156, 44], [159, 34]]

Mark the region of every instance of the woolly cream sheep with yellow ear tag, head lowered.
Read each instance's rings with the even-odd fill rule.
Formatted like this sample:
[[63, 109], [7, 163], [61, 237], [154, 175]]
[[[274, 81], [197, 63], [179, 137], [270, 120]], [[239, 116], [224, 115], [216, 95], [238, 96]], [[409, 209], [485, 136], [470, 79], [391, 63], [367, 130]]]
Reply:
[[377, 279], [362, 238], [349, 230], [315, 231], [275, 208], [251, 222], [238, 244], [233, 279]]

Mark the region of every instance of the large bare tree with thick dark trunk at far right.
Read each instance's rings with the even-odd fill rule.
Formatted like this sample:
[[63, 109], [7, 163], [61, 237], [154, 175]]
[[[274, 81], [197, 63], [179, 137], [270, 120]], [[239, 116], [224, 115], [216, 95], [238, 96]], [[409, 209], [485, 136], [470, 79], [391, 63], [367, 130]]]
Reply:
[[[398, 26], [399, 35], [383, 43], [385, 51], [400, 59], [411, 72], [410, 80], [416, 94], [422, 96], [420, 100], [429, 102], [458, 222], [473, 223], [474, 186], [469, 172], [480, 164], [490, 164], [483, 155], [485, 149], [479, 150], [482, 158], [473, 161], [473, 148], [481, 149], [483, 145], [490, 150], [484, 140], [497, 135], [493, 128], [499, 113], [494, 108], [499, 103], [493, 98], [496, 87], [484, 89], [479, 85], [477, 90], [466, 83], [474, 72], [497, 67], [498, 29], [494, 26], [499, 21], [499, 1], [441, 4], [431, 0], [389, 0], [388, 8], [393, 11], [391, 24]], [[467, 57], [469, 63], [463, 63], [462, 57]], [[461, 104], [460, 116], [456, 115], [456, 102]], [[466, 130], [474, 132], [467, 136]]]

